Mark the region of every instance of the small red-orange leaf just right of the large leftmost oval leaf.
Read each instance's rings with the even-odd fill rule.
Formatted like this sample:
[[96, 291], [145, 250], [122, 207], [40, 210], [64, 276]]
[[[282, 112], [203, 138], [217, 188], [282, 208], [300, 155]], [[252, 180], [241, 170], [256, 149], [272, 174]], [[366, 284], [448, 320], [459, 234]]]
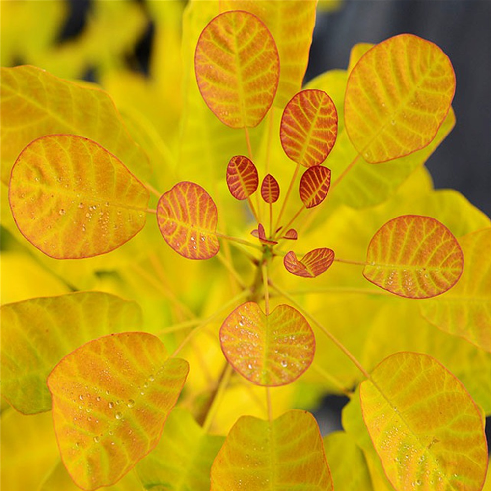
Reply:
[[177, 183], [157, 205], [157, 223], [165, 242], [188, 259], [208, 259], [217, 254], [217, 220], [211, 196], [191, 182]]

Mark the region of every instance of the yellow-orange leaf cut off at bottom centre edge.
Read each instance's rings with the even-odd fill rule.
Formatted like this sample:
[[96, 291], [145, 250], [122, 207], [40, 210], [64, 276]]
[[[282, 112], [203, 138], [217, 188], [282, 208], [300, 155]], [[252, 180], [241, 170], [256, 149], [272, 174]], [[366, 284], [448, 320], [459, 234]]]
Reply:
[[211, 471], [212, 490], [332, 490], [319, 427], [307, 411], [242, 416]]

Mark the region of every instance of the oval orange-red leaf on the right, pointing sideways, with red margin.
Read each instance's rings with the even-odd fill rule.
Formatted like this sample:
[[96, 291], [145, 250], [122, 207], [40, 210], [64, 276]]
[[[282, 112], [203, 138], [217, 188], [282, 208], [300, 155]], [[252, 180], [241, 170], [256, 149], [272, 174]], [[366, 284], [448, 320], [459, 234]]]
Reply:
[[434, 297], [460, 278], [464, 255], [435, 218], [404, 215], [388, 221], [368, 245], [363, 276], [384, 290], [413, 299]]

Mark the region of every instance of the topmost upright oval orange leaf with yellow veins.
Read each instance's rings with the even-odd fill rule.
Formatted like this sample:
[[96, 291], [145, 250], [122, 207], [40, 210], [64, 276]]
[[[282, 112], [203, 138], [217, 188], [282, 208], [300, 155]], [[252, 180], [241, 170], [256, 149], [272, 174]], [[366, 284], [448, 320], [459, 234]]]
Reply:
[[257, 126], [273, 103], [278, 50], [253, 14], [230, 11], [212, 19], [199, 37], [194, 68], [203, 99], [227, 126]]

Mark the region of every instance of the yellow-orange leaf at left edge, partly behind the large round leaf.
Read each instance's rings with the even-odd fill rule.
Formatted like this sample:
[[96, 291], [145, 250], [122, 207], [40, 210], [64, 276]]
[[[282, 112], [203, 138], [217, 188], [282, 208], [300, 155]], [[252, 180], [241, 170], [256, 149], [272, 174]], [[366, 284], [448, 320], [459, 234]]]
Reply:
[[[139, 178], [150, 174], [147, 156], [131, 139], [108, 93], [99, 88], [59, 79], [33, 66], [2, 67], [0, 102], [4, 184], [22, 149], [40, 136], [55, 133], [97, 141]], [[102, 118], [112, 123], [104, 124]]]

